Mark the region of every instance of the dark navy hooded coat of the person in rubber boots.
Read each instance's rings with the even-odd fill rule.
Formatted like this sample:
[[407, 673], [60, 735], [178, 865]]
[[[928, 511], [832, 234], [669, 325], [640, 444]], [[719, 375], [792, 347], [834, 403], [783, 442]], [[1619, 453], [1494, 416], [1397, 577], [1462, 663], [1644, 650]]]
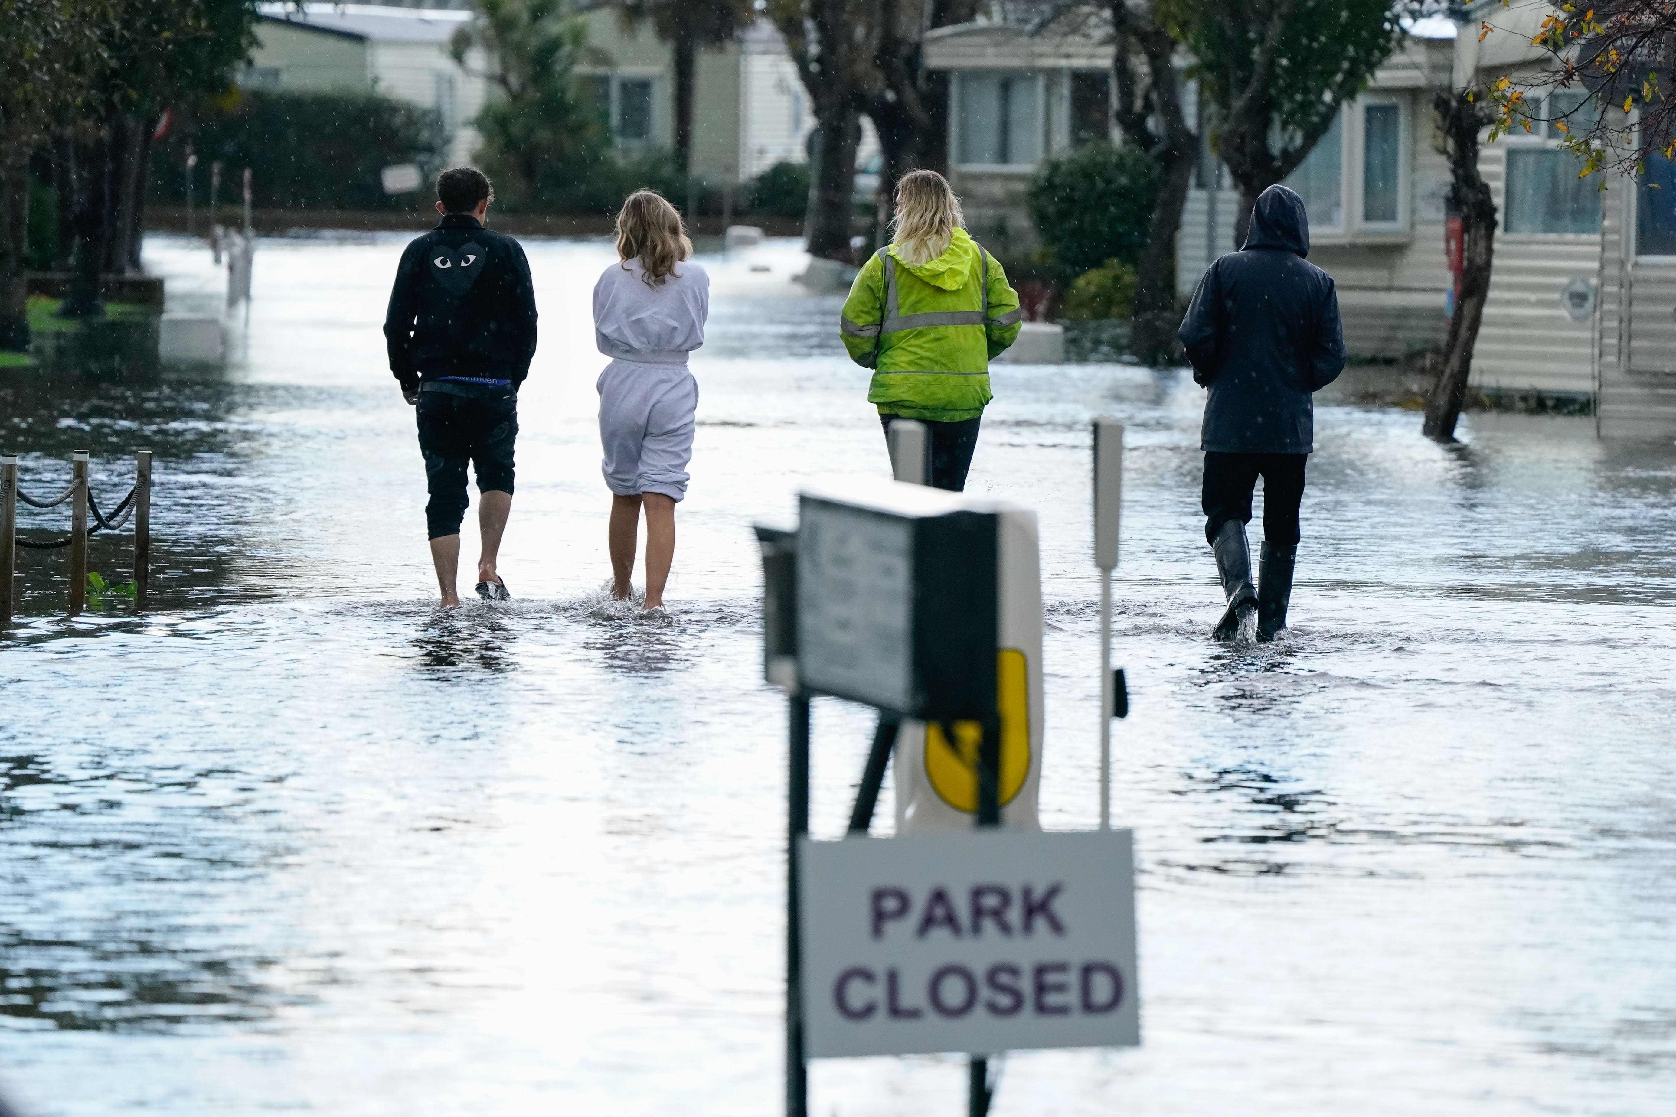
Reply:
[[1304, 199], [1270, 186], [1252, 208], [1245, 246], [1198, 281], [1178, 337], [1193, 380], [1210, 389], [1200, 449], [1314, 452], [1311, 394], [1344, 370], [1344, 327], [1332, 276], [1307, 255]]

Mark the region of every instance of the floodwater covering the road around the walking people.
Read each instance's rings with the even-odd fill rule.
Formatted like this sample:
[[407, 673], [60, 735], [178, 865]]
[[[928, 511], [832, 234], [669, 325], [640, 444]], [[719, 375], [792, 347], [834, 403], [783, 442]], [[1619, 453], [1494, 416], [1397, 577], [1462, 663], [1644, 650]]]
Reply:
[[[0, 640], [0, 1090], [65, 1117], [778, 1114], [784, 700], [749, 526], [887, 471], [838, 301], [788, 283], [791, 245], [704, 258], [672, 620], [645, 623], [598, 591], [608, 248], [531, 243], [518, 600], [441, 613], [379, 333], [401, 246], [265, 239], [225, 373], [0, 395], [34, 492], [91, 447], [121, 496], [158, 452], [156, 611], [67, 621], [60, 559], [28, 553]], [[204, 250], [147, 251], [213, 298]], [[1676, 449], [1513, 415], [1438, 447], [1329, 399], [1294, 628], [1229, 648], [1192, 382], [994, 380], [970, 489], [1041, 514], [1054, 829], [1098, 809], [1088, 422], [1128, 424], [1143, 998], [1143, 1047], [1014, 1053], [994, 1112], [1671, 1112]], [[126, 579], [124, 539], [94, 569]], [[816, 702], [818, 836], [870, 727]], [[964, 1082], [821, 1062], [811, 1112], [955, 1114]]]

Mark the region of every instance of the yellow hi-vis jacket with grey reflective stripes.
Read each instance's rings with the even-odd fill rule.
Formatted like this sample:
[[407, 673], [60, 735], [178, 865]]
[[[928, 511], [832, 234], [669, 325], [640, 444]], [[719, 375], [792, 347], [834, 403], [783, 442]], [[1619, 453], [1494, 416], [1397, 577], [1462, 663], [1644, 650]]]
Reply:
[[873, 370], [866, 389], [882, 415], [977, 419], [989, 362], [1019, 337], [1019, 295], [1001, 263], [955, 229], [944, 255], [903, 263], [890, 245], [868, 258], [843, 305], [850, 358]]

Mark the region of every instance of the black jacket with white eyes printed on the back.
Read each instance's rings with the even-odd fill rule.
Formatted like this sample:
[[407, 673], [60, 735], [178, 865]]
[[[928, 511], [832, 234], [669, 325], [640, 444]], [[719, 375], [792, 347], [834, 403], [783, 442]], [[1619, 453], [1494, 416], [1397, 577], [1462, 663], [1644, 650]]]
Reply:
[[421, 380], [511, 380], [535, 357], [535, 288], [523, 246], [469, 213], [451, 213], [402, 253], [384, 317], [391, 372]]

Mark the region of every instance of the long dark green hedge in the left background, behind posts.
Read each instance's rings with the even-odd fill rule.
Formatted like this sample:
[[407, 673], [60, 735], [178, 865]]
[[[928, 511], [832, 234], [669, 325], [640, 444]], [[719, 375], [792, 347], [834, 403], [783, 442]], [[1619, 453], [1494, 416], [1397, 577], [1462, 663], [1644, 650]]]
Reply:
[[221, 203], [238, 201], [250, 167], [263, 209], [392, 209], [412, 198], [387, 196], [379, 171], [417, 162], [434, 174], [444, 134], [434, 111], [379, 94], [251, 92], [226, 111], [206, 109], [156, 147], [154, 199], [186, 203], [188, 142], [198, 154], [198, 204], [210, 201], [210, 164], [221, 161]]

